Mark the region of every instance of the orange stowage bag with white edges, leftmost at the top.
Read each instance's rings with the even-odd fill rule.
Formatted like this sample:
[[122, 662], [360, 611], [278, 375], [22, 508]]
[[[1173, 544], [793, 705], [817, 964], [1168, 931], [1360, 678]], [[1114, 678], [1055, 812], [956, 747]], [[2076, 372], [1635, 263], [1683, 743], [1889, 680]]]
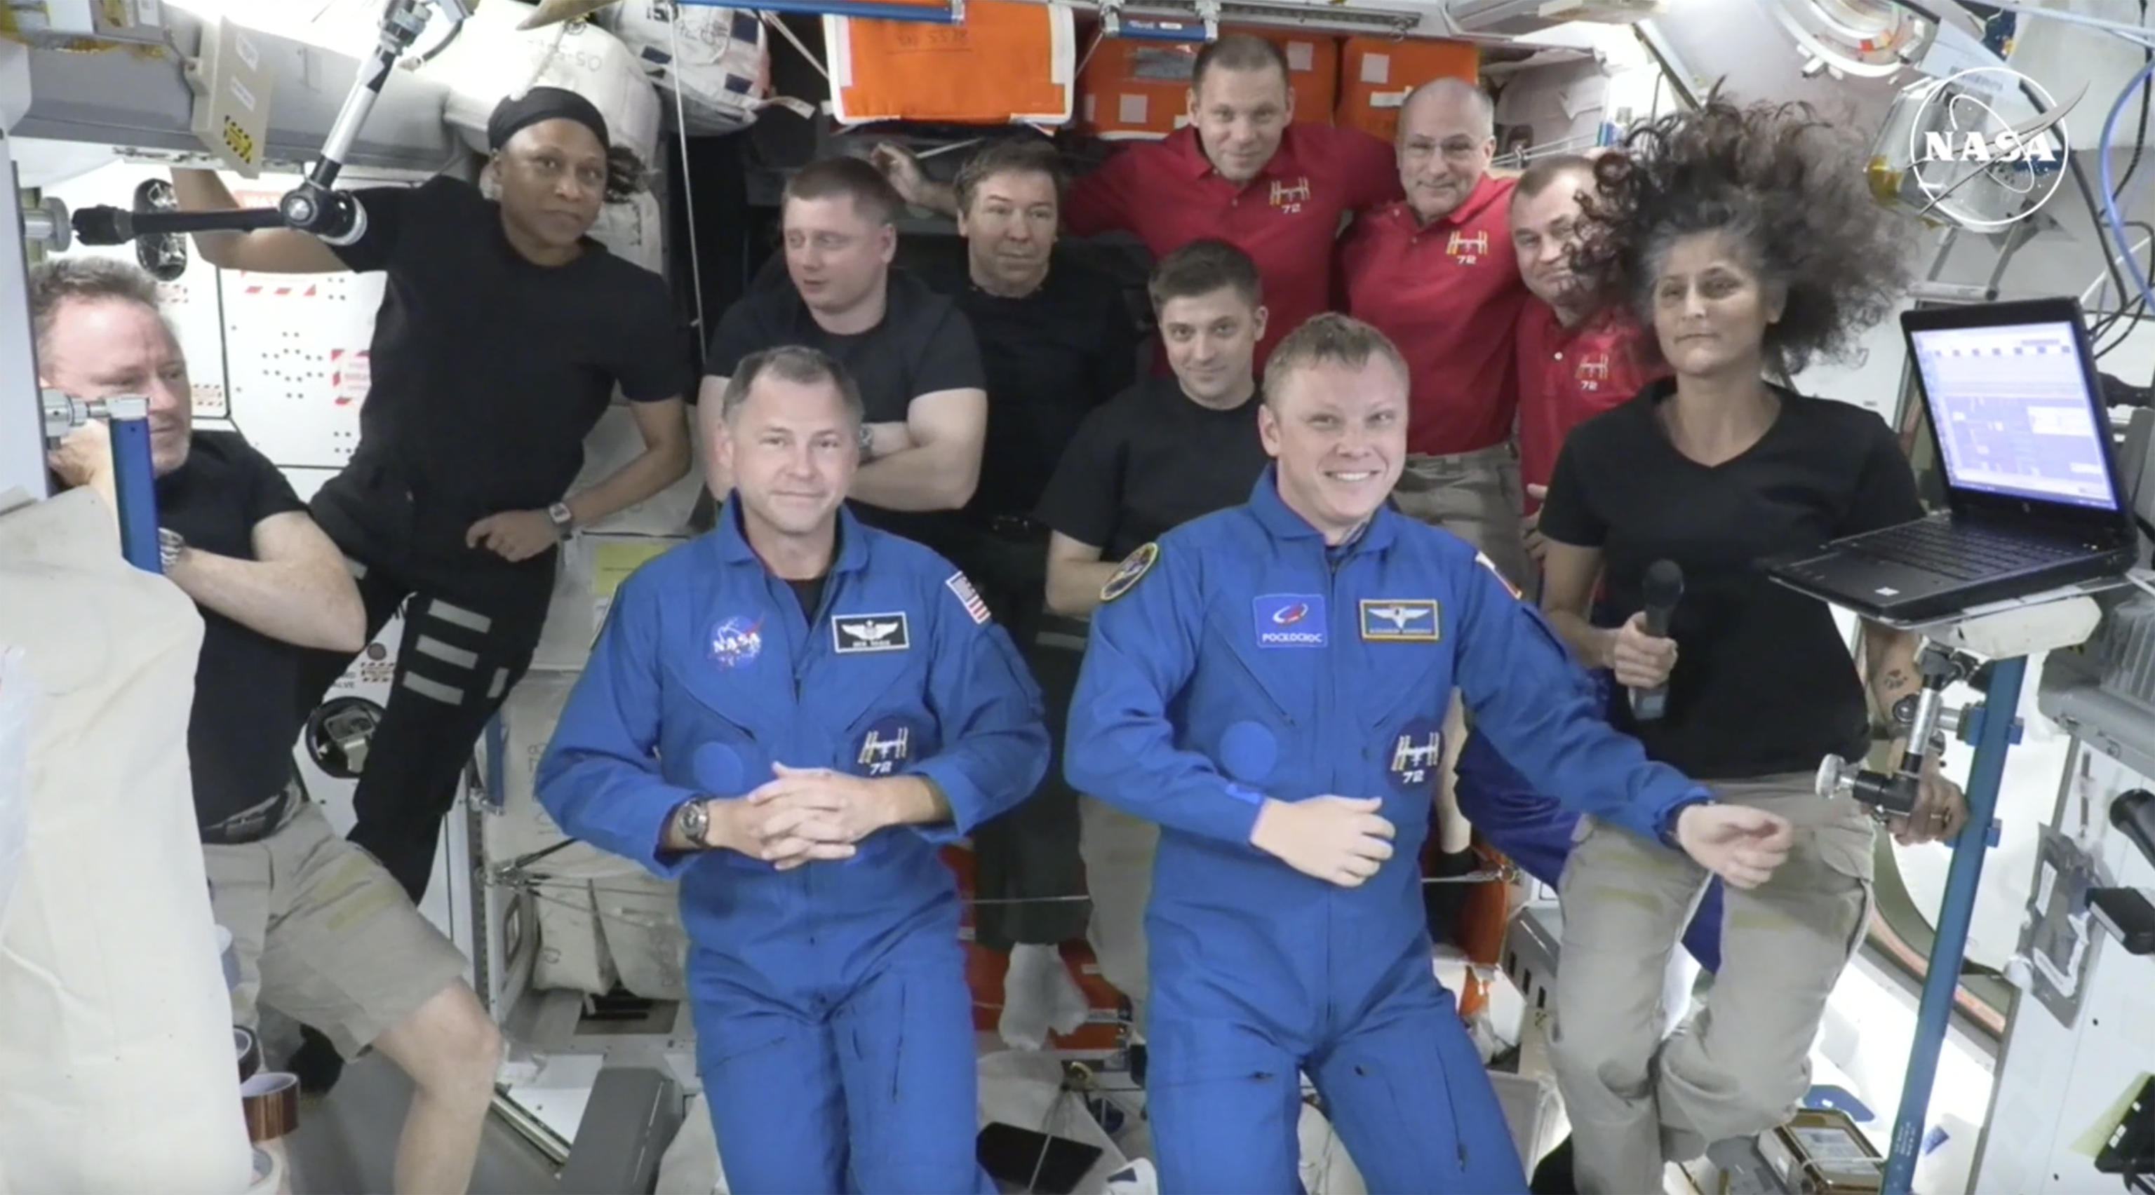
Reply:
[[955, 26], [823, 17], [823, 43], [832, 114], [843, 125], [1071, 118], [1078, 26], [1062, 4], [965, 0], [965, 22]]

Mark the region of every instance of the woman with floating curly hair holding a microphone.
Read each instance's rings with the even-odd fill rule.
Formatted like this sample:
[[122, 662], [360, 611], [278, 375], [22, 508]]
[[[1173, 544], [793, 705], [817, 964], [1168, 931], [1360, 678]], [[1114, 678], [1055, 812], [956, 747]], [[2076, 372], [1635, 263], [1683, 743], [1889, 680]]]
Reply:
[[[1672, 377], [1567, 439], [1541, 512], [1543, 609], [1629, 691], [1616, 726], [1720, 801], [1797, 827], [1786, 866], [1730, 885], [1709, 1006], [1662, 1042], [1662, 971], [1707, 874], [1662, 842], [1584, 820], [1560, 898], [1552, 1053], [1577, 1191], [1662, 1191], [1664, 1163], [1780, 1124], [1810, 1083], [1825, 1001], [1871, 906], [1868, 812], [1812, 790], [1827, 754], [1868, 754], [1879, 708], [1920, 689], [1914, 635], [1864, 624], [1864, 667], [1825, 603], [1754, 562], [1922, 517], [1875, 413], [1791, 379], [1847, 353], [1907, 282], [1909, 228], [1864, 187], [1864, 149], [1804, 106], [1700, 110], [1633, 131], [1595, 164], [1575, 269], [1655, 332]], [[1683, 601], [1646, 633], [1642, 579], [1670, 560]], [[1610, 624], [1593, 624], [1595, 592]], [[1959, 790], [1931, 760], [1905, 842], [1950, 835]], [[1562, 1184], [1552, 1156], [1537, 1189]]]

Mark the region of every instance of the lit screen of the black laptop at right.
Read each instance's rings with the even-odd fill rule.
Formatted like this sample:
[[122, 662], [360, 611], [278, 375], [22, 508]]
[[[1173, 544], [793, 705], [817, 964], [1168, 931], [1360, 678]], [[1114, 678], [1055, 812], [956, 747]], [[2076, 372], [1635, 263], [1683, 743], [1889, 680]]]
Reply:
[[1911, 329], [1955, 489], [2116, 510], [2110, 426], [2071, 323]]

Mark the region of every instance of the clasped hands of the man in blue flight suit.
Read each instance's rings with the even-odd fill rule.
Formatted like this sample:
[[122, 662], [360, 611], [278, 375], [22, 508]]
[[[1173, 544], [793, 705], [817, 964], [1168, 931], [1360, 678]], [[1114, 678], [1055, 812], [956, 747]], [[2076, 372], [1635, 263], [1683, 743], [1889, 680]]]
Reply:
[[894, 825], [881, 782], [830, 769], [771, 764], [771, 779], [739, 801], [711, 801], [707, 846], [763, 859], [780, 872], [851, 859], [860, 840]]

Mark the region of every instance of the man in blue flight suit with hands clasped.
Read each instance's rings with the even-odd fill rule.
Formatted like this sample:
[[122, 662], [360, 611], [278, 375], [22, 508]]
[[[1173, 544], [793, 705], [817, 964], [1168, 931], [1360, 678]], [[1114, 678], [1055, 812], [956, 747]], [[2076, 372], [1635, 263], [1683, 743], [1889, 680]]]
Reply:
[[735, 493], [629, 577], [539, 764], [573, 838], [681, 878], [731, 1191], [996, 1191], [937, 846], [1047, 771], [1041, 695], [965, 575], [858, 523], [860, 394], [812, 349], [724, 394]]

